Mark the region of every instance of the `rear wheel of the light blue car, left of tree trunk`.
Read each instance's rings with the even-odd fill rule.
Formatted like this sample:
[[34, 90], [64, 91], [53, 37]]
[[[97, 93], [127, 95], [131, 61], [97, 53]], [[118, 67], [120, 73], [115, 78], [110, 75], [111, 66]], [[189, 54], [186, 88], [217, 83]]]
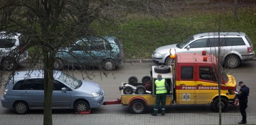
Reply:
[[24, 102], [24, 101], [17, 101], [17, 102], [14, 104], [14, 111], [15, 111], [17, 114], [26, 114], [27, 111], [29, 111], [29, 106], [28, 106], [27, 103]]

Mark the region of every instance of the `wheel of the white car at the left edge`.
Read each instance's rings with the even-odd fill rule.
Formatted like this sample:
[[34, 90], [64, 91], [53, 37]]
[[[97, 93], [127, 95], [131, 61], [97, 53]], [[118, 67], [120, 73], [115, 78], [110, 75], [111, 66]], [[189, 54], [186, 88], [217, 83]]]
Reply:
[[17, 68], [17, 63], [13, 58], [5, 58], [2, 60], [1, 66], [5, 71], [12, 71]]

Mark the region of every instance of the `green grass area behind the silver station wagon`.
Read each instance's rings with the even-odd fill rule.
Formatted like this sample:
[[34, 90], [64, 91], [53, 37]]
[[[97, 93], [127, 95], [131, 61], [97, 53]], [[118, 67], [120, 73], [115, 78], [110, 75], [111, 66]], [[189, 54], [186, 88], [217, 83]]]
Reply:
[[100, 35], [112, 35], [123, 41], [125, 59], [151, 59], [159, 46], [179, 43], [202, 32], [245, 32], [256, 50], [256, 9], [239, 10], [239, 20], [234, 20], [231, 10], [198, 11], [176, 17], [130, 15], [108, 27], [97, 22], [92, 27]]

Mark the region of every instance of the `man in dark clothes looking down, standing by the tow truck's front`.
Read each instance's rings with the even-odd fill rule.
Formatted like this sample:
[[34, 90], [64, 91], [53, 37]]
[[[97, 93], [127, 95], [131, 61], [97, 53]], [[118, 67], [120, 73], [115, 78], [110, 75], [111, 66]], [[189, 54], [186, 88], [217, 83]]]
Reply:
[[242, 114], [242, 121], [239, 124], [246, 124], [246, 111], [248, 96], [249, 96], [249, 87], [247, 87], [244, 82], [239, 82], [240, 91], [235, 96], [239, 99], [239, 110]]

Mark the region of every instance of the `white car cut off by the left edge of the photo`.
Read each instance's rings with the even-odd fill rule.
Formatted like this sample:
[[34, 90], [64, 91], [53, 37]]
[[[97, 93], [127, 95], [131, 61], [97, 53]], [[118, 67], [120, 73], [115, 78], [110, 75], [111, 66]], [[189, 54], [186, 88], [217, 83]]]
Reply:
[[28, 57], [27, 51], [21, 53], [24, 40], [21, 33], [0, 32], [0, 61], [2, 69], [11, 71]]

